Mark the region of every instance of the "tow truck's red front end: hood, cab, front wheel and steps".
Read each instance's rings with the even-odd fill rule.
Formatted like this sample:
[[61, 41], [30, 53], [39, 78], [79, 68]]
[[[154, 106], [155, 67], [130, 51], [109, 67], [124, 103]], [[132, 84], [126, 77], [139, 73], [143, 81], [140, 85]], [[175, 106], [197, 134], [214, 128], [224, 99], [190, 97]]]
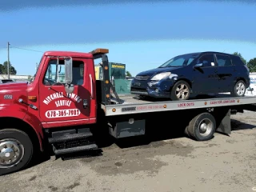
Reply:
[[88, 142], [81, 144], [79, 138], [92, 136], [86, 130], [97, 122], [94, 59], [107, 53], [106, 49], [46, 51], [30, 82], [0, 85], [0, 175], [21, 170], [34, 151], [43, 151], [49, 144], [55, 154], [70, 153], [70, 148], [61, 149], [54, 142], [66, 146], [72, 140], [74, 146], [75, 138], [78, 147], [73, 151], [97, 149]]

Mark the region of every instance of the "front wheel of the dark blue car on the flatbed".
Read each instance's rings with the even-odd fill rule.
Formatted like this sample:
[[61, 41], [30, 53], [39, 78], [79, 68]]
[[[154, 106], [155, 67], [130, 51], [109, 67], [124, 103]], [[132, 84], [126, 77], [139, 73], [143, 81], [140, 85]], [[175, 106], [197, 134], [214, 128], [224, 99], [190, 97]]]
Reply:
[[[184, 97], [180, 97], [182, 95]], [[190, 98], [190, 85], [181, 80], [174, 84], [172, 89], [170, 90], [170, 99], [172, 101], [180, 101], [180, 100], [187, 100]]]

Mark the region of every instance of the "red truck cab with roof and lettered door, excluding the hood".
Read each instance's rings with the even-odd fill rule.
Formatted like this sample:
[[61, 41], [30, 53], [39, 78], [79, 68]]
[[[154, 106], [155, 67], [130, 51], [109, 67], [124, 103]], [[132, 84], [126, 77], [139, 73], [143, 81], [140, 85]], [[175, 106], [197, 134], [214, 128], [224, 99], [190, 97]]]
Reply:
[[27, 89], [30, 114], [45, 128], [96, 122], [93, 54], [47, 51]]

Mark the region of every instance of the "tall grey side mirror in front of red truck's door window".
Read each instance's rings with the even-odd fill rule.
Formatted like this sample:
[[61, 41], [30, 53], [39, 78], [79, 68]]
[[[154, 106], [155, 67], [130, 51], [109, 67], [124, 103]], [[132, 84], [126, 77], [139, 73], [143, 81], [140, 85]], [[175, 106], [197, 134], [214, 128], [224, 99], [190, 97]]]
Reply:
[[71, 84], [72, 82], [72, 58], [65, 58], [64, 59], [65, 64], [65, 90], [66, 93], [71, 94], [74, 91], [74, 85]]

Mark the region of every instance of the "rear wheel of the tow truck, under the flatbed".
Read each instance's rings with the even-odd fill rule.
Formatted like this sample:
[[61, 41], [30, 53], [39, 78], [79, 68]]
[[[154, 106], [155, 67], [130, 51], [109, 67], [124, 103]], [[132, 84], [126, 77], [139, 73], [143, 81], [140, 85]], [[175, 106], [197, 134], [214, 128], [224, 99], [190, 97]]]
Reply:
[[207, 141], [214, 137], [216, 130], [216, 121], [212, 114], [198, 114], [187, 126], [187, 132], [190, 137], [197, 141]]

